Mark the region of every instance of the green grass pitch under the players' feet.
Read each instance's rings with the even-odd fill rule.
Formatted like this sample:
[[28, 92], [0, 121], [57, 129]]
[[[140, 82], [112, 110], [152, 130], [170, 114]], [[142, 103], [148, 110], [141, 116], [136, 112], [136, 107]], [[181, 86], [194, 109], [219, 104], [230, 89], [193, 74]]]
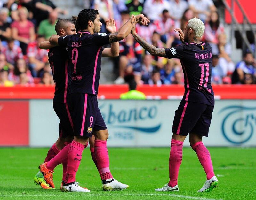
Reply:
[[[184, 148], [179, 174], [180, 192], [155, 192], [169, 180], [169, 148], [109, 148], [110, 169], [114, 177], [130, 185], [124, 191], [104, 192], [101, 180], [86, 149], [76, 175], [90, 193], [64, 193], [59, 189], [62, 166], [55, 169], [57, 189], [43, 190], [33, 181], [46, 148], [0, 148], [0, 199], [256, 199], [256, 148], [209, 148], [219, 187], [210, 193], [197, 193], [205, 173], [196, 153]], [[177, 196], [180, 195], [180, 196]], [[88, 196], [88, 197], [87, 197]]]

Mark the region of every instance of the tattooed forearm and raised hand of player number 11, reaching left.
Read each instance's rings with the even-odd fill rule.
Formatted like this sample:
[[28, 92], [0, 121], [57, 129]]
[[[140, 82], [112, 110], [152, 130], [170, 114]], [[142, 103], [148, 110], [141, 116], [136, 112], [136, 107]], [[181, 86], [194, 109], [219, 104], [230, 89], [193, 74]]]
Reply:
[[167, 58], [164, 48], [156, 48], [152, 44], [149, 44], [148, 42], [146, 42], [142, 37], [140, 37], [140, 35], [138, 35], [136, 33], [136, 30], [135, 30], [136, 18], [134, 15], [132, 15], [131, 22], [132, 22], [131, 23], [132, 24], [131, 33], [132, 33], [134, 39], [140, 44], [140, 46], [142, 46], [152, 56], [161, 56], [161, 57]]

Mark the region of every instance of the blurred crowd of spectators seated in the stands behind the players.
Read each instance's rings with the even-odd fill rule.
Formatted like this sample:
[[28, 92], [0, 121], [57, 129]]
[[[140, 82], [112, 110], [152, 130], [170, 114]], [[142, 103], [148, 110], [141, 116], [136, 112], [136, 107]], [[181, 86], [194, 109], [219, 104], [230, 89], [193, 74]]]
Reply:
[[[200, 18], [205, 23], [202, 41], [212, 46], [212, 83], [255, 84], [253, 54], [245, 52], [243, 60], [238, 63], [230, 58], [232, 48], [216, 8], [218, 1], [87, 0], [86, 5], [99, 10], [103, 24], [101, 32], [106, 32], [105, 21], [109, 18], [115, 19], [119, 29], [132, 14], [143, 13], [151, 23], [148, 26], [137, 24], [137, 32], [158, 48], [180, 45], [179, 35], [173, 29], [180, 27], [184, 30], [189, 19]], [[58, 15], [67, 13], [50, 0], [0, 1], [0, 85], [54, 85], [48, 50], [39, 49], [38, 44], [56, 34]], [[114, 71], [118, 72], [115, 84], [125, 83], [125, 78], [131, 75], [138, 85], [184, 83], [178, 59], [151, 56], [131, 34], [119, 44], [119, 57], [113, 58]]]

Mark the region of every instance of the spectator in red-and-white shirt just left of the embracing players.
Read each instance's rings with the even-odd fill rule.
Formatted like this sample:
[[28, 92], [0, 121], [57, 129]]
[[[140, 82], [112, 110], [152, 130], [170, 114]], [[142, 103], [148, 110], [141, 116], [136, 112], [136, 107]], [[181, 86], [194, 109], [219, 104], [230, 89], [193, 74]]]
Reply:
[[36, 41], [31, 42], [28, 45], [28, 66], [34, 77], [38, 76], [38, 72], [40, 72], [40, 70], [44, 68], [45, 63], [48, 62], [48, 50], [40, 49], [38, 47], [38, 44], [44, 41], [44, 36], [38, 35]]

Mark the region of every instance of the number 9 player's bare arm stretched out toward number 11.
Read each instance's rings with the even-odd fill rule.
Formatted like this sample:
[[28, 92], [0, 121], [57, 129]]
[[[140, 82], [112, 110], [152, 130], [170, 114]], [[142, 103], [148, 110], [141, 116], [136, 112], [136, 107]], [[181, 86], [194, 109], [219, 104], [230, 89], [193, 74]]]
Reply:
[[[136, 19], [136, 21], [139, 21], [143, 25], [148, 25], [148, 23], [150, 23], [150, 21], [143, 14], [136, 15], [134, 16], [134, 18]], [[132, 30], [131, 21], [132, 18], [129, 19], [118, 31], [110, 34], [109, 42], [117, 42], [127, 37], [127, 35], [129, 35]]]

